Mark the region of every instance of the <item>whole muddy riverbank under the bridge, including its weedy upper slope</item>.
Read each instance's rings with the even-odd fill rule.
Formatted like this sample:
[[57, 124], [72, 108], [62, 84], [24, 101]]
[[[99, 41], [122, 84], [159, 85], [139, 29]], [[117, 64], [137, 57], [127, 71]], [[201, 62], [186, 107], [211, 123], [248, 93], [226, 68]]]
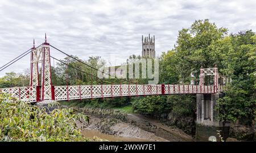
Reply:
[[137, 114], [125, 114], [118, 110], [76, 108], [89, 115], [89, 123], [79, 123], [85, 137], [117, 141], [193, 141], [192, 137], [175, 127]]

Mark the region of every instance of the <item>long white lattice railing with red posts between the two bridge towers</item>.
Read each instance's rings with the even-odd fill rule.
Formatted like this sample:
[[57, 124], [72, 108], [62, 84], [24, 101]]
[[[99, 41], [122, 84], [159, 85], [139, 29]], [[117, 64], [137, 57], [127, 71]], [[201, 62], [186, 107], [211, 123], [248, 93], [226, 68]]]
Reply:
[[[164, 90], [162, 92], [162, 89]], [[215, 91], [214, 91], [215, 90]], [[156, 94], [216, 93], [214, 86], [199, 85], [71, 85], [55, 86], [55, 100], [79, 100]]]

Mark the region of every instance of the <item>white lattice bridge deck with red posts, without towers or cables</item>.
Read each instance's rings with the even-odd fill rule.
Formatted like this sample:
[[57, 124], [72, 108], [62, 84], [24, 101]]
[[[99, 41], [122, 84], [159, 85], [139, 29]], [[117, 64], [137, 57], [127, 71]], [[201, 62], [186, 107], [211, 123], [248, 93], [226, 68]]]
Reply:
[[[25, 102], [36, 102], [38, 94], [36, 87], [2, 88], [0, 92], [11, 94]], [[213, 94], [216, 86], [200, 85], [71, 85], [54, 86], [54, 100], [82, 100], [88, 98], [107, 98], [125, 96], [148, 96], [163, 94]]]

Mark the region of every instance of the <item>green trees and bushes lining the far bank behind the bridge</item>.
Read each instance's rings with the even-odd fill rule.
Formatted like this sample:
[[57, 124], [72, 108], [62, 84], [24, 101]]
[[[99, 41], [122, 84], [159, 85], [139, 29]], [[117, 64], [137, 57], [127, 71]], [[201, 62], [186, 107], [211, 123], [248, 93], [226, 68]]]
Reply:
[[[78, 58], [78, 57], [77, 57]], [[129, 59], [139, 59], [140, 56], [130, 56]], [[82, 60], [82, 59], [80, 59]], [[221, 77], [226, 78], [224, 97], [217, 102], [217, 119], [230, 122], [246, 129], [254, 129], [256, 116], [256, 35], [252, 30], [243, 30], [237, 34], [228, 34], [228, 29], [218, 28], [208, 19], [196, 20], [189, 28], [182, 28], [177, 36], [174, 48], [163, 52], [159, 57], [159, 84], [195, 84], [199, 83], [200, 67], [217, 65]], [[87, 73], [97, 75], [93, 71], [68, 57], [63, 60], [72, 67]], [[82, 60], [100, 68], [105, 63], [101, 57], [89, 57]], [[100, 63], [100, 64], [99, 64]], [[191, 73], [195, 77], [191, 76]], [[7, 73], [0, 78], [0, 88], [27, 85], [28, 73]], [[101, 84], [102, 80], [93, 79], [66, 65], [57, 63], [52, 67], [53, 85], [88, 85]], [[206, 78], [208, 81], [208, 78]], [[117, 79], [112, 79], [117, 84]], [[147, 84], [148, 79], [131, 79], [138, 84]], [[209, 84], [212, 82], [208, 81]], [[107, 84], [106, 82], [103, 82]], [[127, 82], [123, 82], [127, 83]], [[93, 107], [125, 107], [131, 113], [150, 115], [151, 117], [166, 119], [168, 125], [175, 125], [188, 134], [195, 134], [196, 97], [195, 95], [146, 96], [105, 98], [104, 100], [75, 101], [71, 105], [88, 105]], [[121, 109], [122, 110], [122, 109]], [[232, 137], [238, 140], [253, 140], [253, 137], [243, 135], [245, 130], [236, 130], [234, 126]], [[235, 130], [235, 131], [234, 131]], [[254, 134], [253, 134], [254, 135]], [[254, 138], [255, 139], [255, 138]]]

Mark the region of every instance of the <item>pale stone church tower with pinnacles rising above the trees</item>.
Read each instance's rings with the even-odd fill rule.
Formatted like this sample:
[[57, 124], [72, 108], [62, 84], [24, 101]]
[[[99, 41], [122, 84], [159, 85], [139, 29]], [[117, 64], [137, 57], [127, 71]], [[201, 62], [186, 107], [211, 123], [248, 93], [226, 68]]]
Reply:
[[155, 36], [150, 38], [148, 34], [148, 37], [143, 39], [142, 35], [142, 57], [155, 59]]

